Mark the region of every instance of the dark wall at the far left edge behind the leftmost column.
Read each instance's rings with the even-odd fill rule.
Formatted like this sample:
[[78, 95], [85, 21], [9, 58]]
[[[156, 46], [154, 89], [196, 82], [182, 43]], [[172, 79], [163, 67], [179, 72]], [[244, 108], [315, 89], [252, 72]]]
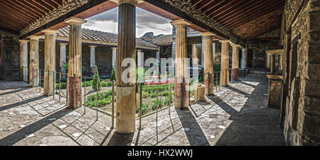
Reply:
[[18, 35], [0, 30], [0, 79], [19, 79], [19, 51]]

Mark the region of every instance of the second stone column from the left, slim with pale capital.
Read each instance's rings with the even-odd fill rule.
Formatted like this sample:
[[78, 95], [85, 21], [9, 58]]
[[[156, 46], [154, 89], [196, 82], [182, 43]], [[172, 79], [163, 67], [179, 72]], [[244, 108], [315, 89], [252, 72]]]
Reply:
[[41, 36], [31, 35], [30, 38], [30, 87], [39, 86], [39, 39]]

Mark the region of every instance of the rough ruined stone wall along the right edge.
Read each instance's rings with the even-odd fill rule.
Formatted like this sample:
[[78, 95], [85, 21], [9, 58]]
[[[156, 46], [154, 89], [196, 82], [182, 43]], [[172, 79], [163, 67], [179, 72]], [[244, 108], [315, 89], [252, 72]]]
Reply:
[[[287, 38], [296, 40], [289, 51], [289, 69], [284, 81], [289, 80], [289, 96], [287, 97], [284, 120], [284, 136], [289, 145], [319, 145], [320, 144], [320, 0], [310, 0], [302, 4], [302, 0], [286, 2], [282, 33], [292, 23], [291, 34], [284, 35], [285, 52]], [[300, 4], [302, 10], [296, 19]], [[297, 51], [295, 51], [297, 50]], [[294, 54], [297, 54], [294, 56]], [[294, 68], [297, 67], [295, 71]], [[294, 75], [295, 74], [295, 75]], [[294, 76], [290, 76], [294, 75]]]

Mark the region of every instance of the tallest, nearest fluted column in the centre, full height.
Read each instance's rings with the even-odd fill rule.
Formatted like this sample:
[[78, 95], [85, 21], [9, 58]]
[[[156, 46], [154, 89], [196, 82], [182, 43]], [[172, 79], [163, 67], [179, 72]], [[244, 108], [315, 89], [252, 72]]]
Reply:
[[[136, 6], [133, 2], [124, 0], [119, 4], [115, 130], [118, 134], [130, 134], [135, 131], [136, 85], [134, 81], [122, 79], [122, 74], [126, 69], [131, 67], [130, 70], [134, 70], [134, 73], [136, 69], [135, 62], [122, 67], [124, 59], [136, 59]], [[131, 74], [127, 76], [129, 79], [135, 79]]]

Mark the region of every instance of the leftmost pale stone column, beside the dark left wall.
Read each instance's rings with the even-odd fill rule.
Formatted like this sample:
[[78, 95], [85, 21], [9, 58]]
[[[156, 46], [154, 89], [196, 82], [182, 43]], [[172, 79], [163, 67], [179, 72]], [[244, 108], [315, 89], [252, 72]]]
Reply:
[[20, 42], [20, 81], [28, 81], [28, 40]]

